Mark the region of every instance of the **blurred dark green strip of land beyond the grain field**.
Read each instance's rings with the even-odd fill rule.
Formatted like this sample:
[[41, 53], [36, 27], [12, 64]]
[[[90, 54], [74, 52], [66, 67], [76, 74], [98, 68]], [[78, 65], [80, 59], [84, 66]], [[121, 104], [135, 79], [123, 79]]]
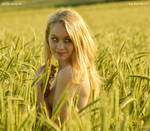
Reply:
[[[96, 3], [123, 2], [123, 1], [127, 1], [127, 0], [30, 0], [30, 1], [29, 0], [0, 0], [0, 3], [2, 6], [42, 8], [42, 7], [79, 6], [79, 5], [90, 5]], [[128, 1], [134, 2], [138, 0], [128, 0]]]

